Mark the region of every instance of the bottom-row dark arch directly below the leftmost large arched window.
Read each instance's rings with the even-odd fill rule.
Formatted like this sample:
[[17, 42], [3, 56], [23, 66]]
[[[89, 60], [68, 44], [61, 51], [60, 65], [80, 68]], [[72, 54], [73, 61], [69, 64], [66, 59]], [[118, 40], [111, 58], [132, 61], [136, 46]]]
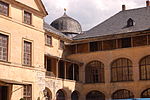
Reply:
[[86, 100], [105, 100], [105, 95], [99, 91], [91, 91], [86, 95]]

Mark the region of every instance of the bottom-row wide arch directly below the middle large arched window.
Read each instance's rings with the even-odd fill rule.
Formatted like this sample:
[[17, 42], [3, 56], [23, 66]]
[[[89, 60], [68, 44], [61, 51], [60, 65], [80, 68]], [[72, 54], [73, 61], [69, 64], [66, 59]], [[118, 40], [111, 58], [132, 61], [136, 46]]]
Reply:
[[133, 93], [125, 89], [117, 90], [112, 94], [112, 99], [130, 99], [130, 98], [134, 98]]

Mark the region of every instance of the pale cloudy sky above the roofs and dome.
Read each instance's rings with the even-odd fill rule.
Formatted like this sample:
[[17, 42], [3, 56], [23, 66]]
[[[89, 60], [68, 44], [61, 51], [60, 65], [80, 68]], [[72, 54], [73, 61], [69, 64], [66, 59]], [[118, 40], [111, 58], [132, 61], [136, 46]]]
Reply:
[[67, 9], [68, 16], [76, 19], [82, 26], [83, 31], [100, 24], [104, 20], [118, 13], [122, 5], [126, 9], [133, 9], [146, 6], [146, 0], [42, 0], [48, 12], [45, 17], [47, 23], [64, 14]]

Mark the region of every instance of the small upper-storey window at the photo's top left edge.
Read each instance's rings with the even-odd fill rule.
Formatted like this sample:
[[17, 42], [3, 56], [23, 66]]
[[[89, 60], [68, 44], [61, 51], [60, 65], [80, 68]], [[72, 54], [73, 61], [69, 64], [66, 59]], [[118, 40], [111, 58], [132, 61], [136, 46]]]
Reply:
[[9, 4], [0, 1], [0, 14], [9, 16]]

